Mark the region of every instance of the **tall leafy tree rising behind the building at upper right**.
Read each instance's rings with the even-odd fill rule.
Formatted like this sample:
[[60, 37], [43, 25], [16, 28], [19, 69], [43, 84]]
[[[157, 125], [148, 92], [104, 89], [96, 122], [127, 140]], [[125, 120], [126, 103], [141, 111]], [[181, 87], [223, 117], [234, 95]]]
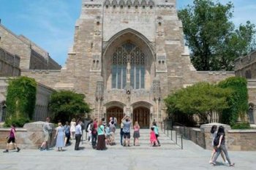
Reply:
[[197, 70], [233, 70], [236, 58], [255, 49], [255, 25], [247, 21], [236, 29], [230, 21], [233, 8], [231, 2], [194, 0], [178, 11]]

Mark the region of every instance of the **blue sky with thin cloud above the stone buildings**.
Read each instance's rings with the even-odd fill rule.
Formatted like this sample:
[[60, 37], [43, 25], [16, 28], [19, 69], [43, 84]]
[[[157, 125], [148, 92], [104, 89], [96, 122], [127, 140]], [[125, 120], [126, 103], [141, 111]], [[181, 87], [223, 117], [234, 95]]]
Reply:
[[[64, 66], [67, 49], [72, 46], [75, 21], [82, 0], [0, 0], [1, 24], [15, 34], [23, 34], [50, 53]], [[176, 0], [177, 8], [193, 0]], [[220, 0], [227, 3], [229, 0]], [[232, 0], [231, 0], [232, 1]], [[256, 0], [233, 0], [233, 22], [238, 26], [250, 20], [256, 24]]]

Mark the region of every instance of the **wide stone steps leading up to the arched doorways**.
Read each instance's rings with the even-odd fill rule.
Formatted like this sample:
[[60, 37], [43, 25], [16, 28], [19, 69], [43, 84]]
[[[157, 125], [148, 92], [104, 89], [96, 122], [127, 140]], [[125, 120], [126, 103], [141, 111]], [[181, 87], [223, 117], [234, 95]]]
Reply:
[[[160, 147], [151, 147], [150, 146], [150, 130], [149, 129], [140, 129], [140, 138], [139, 143], [140, 146], [134, 146], [133, 145], [133, 129], [131, 129], [131, 140], [130, 140], [130, 147], [123, 147], [120, 144], [120, 129], [116, 129], [115, 134], [115, 145], [107, 145], [108, 150], [181, 150], [181, 147], [179, 147], [175, 142], [170, 140], [167, 135], [162, 133], [162, 131], [159, 131], [159, 142], [161, 144]], [[83, 139], [86, 139], [85, 136], [83, 136]], [[88, 142], [88, 140], [83, 140], [83, 144], [80, 144], [81, 146], [86, 147], [86, 149], [92, 149], [91, 143]]]

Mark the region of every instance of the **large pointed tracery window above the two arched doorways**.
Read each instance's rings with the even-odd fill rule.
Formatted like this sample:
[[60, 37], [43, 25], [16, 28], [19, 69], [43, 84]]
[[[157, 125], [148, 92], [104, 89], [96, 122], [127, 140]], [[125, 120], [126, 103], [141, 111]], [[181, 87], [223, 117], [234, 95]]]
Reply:
[[121, 45], [112, 56], [112, 88], [123, 89], [127, 85], [127, 63], [130, 63], [130, 85], [134, 89], [145, 88], [146, 57], [139, 47], [130, 42]]

